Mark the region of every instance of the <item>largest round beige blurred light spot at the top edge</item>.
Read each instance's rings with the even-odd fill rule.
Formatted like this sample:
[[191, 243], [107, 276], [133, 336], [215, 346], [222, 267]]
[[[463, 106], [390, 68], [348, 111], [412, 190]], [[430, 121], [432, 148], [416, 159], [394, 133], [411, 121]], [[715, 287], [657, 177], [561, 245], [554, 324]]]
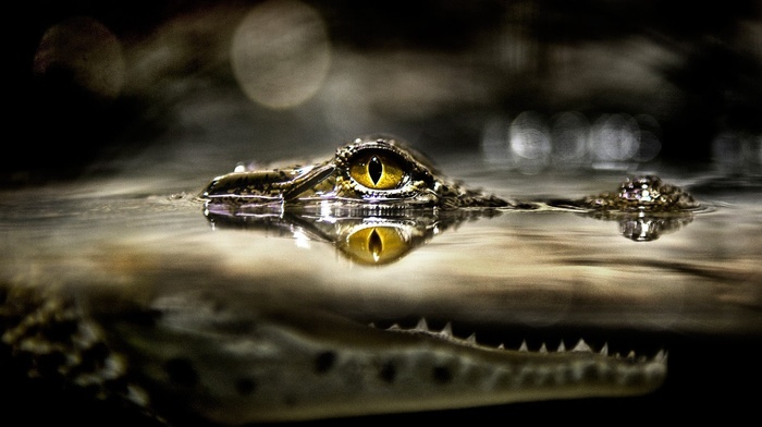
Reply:
[[251, 100], [296, 107], [322, 86], [331, 64], [325, 24], [311, 7], [272, 0], [253, 8], [233, 36], [235, 77]]

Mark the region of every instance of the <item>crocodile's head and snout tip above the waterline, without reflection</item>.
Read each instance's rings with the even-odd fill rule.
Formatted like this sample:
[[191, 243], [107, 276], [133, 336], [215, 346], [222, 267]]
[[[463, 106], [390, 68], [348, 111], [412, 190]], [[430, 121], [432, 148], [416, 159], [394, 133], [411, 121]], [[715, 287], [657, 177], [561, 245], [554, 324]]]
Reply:
[[[351, 208], [384, 212], [440, 208], [536, 209], [538, 203], [512, 203], [467, 188], [445, 179], [422, 155], [391, 136], [358, 137], [336, 149], [332, 159], [268, 171], [245, 170], [214, 178], [199, 198], [208, 205], [251, 208]], [[593, 211], [678, 212], [696, 209], [698, 202], [685, 190], [656, 175], [628, 178], [619, 191], [555, 205]], [[339, 208], [339, 209], [336, 209]], [[233, 213], [235, 215], [235, 213]]]

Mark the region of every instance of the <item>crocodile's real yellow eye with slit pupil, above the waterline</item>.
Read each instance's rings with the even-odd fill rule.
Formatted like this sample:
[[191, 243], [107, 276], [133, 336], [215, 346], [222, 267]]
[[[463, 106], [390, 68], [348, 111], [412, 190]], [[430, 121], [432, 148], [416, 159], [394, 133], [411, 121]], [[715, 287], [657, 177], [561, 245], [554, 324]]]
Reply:
[[393, 190], [403, 183], [406, 173], [403, 159], [393, 152], [369, 150], [358, 154], [349, 166], [349, 176], [371, 190]]

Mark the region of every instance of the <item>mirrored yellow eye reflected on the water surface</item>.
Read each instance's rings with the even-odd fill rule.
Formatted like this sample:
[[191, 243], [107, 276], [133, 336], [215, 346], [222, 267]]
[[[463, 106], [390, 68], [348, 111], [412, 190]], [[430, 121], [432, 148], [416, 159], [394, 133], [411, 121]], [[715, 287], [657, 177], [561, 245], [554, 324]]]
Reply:
[[394, 227], [369, 227], [352, 233], [343, 247], [355, 261], [369, 265], [391, 263], [398, 259], [409, 244]]

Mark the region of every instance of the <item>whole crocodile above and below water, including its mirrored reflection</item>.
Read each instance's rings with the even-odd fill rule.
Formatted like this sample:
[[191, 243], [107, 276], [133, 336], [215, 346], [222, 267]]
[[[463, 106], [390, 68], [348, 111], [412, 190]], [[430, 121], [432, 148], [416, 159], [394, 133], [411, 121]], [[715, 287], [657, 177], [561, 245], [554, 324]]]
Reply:
[[[358, 138], [315, 164], [238, 168], [214, 178], [197, 199], [216, 227], [265, 223], [307, 231], [308, 239], [332, 242], [357, 263], [377, 267], [479, 217], [550, 209], [629, 221], [680, 218], [699, 206], [656, 176], [629, 179], [617, 192], [581, 199], [507, 200], [444, 178], [386, 136]], [[634, 240], [642, 234], [628, 233]], [[124, 402], [177, 425], [639, 395], [666, 377], [665, 351], [620, 355], [581, 337], [492, 345], [453, 333], [450, 324], [429, 327], [425, 318], [368, 325], [309, 296], [223, 288], [224, 278], [213, 290], [210, 283], [194, 288], [185, 281], [208, 280], [210, 273], [193, 263], [184, 266], [185, 280], [145, 292], [3, 285], [3, 359], [16, 361], [11, 366], [30, 378]], [[139, 268], [131, 268], [139, 279]], [[147, 278], [137, 282], [155, 282]]]

